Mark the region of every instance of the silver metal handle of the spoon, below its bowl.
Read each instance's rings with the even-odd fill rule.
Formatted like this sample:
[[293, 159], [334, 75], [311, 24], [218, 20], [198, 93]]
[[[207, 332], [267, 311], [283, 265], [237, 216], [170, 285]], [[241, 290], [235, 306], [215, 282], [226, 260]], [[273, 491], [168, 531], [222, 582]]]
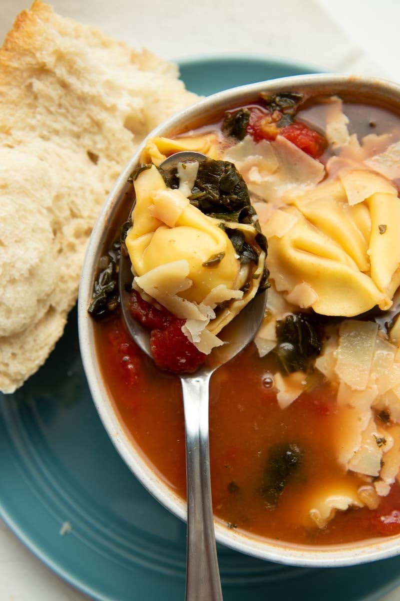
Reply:
[[186, 601], [222, 601], [211, 502], [208, 398], [211, 373], [181, 378], [184, 395], [188, 541]]

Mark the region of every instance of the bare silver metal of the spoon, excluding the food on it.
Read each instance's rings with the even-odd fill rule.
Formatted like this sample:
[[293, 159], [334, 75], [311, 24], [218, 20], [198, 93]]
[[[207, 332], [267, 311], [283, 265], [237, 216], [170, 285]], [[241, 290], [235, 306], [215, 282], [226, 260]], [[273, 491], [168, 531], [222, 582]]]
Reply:
[[[204, 159], [206, 156], [201, 153], [180, 152], [164, 160], [161, 167], [172, 169], [180, 162]], [[133, 319], [129, 311], [127, 290], [131, 282], [130, 260], [121, 254], [119, 290], [122, 315], [131, 337], [147, 355], [152, 357], [149, 332]], [[225, 326], [219, 334], [225, 344], [210, 353], [206, 365], [200, 367], [196, 373], [179, 375], [184, 397], [186, 436], [188, 504], [186, 601], [222, 600], [210, 485], [208, 425], [210, 377], [218, 367], [230, 361], [251, 342], [263, 320], [265, 306], [266, 292], [263, 292]]]

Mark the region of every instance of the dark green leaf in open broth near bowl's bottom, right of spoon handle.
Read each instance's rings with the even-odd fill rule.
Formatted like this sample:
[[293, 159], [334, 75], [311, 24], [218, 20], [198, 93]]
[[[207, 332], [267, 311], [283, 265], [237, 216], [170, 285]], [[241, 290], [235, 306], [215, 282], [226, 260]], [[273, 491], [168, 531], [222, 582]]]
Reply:
[[303, 462], [303, 451], [294, 443], [279, 443], [270, 448], [260, 487], [266, 507], [273, 509], [285, 486]]

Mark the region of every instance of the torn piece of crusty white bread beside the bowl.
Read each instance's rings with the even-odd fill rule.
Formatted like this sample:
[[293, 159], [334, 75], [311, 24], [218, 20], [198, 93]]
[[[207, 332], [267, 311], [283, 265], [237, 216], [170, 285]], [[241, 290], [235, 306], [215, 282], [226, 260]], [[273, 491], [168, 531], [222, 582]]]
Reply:
[[197, 97], [175, 65], [34, 2], [0, 50], [0, 389], [46, 360], [86, 243], [143, 137]]

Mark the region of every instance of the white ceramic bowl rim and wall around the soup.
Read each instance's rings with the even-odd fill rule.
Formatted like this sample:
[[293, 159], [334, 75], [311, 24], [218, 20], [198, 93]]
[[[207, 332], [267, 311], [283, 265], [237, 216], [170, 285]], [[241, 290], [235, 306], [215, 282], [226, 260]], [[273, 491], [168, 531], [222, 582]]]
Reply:
[[[168, 136], [196, 127], [216, 112], [233, 106], [244, 105], [258, 97], [261, 91], [310, 91], [312, 94], [339, 94], [345, 97], [364, 98], [369, 103], [389, 106], [400, 113], [400, 86], [377, 79], [356, 78], [340, 75], [305, 75], [261, 82], [233, 88], [196, 103], [161, 124], [151, 136]], [[144, 144], [143, 144], [144, 145]], [[128, 175], [137, 166], [140, 152], [131, 158], [115, 183], [109, 198], [93, 230], [83, 265], [79, 289], [79, 340], [83, 365], [88, 378], [95, 406], [109, 433], [110, 439], [142, 484], [161, 504], [181, 519], [186, 517], [186, 504], [167, 484], [160, 480], [146, 463], [145, 457], [134, 447], [124, 425], [119, 421], [107, 396], [107, 386], [98, 364], [94, 341], [94, 324], [87, 309], [92, 294], [94, 273], [102, 254], [104, 233], [115, 215], [116, 207], [125, 192]], [[266, 519], [267, 516], [266, 516]], [[228, 529], [222, 522], [215, 522], [216, 540], [237, 551], [254, 555], [264, 560], [293, 566], [338, 567], [365, 563], [392, 557], [400, 553], [400, 536], [375, 538], [347, 545], [306, 546], [277, 542], [272, 539], [242, 534]]]

